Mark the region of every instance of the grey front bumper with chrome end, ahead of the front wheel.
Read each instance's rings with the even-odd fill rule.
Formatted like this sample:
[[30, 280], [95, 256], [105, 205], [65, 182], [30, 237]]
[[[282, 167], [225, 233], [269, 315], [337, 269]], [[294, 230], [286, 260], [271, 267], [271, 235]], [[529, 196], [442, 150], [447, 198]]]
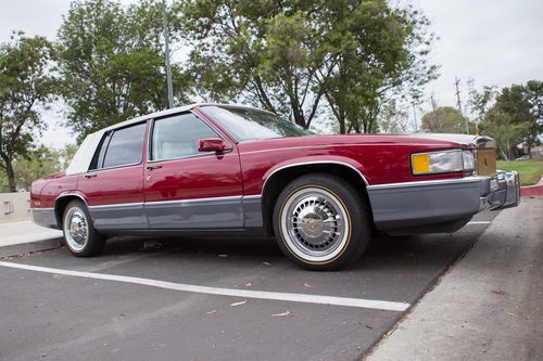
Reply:
[[516, 171], [369, 185], [367, 191], [376, 228], [390, 234], [450, 233], [484, 209], [515, 207], [520, 202]]

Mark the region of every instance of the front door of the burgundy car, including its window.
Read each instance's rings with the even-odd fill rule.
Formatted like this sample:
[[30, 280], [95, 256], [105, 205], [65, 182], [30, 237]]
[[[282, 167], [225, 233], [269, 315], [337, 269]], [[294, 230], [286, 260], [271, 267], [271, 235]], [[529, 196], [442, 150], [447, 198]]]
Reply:
[[243, 227], [238, 151], [232, 145], [227, 153], [199, 152], [199, 140], [205, 138], [220, 136], [192, 113], [153, 120], [144, 170], [151, 229]]

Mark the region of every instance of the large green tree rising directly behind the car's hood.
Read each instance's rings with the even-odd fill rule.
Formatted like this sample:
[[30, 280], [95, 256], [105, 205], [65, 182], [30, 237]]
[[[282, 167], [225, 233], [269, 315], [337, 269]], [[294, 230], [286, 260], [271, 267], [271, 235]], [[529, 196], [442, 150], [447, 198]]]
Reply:
[[384, 103], [392, 96], [419, 96], [437, 68], [426, 55], [432, 35], [418, 11], [391, 8], [386, 1], [329, 1], [326, 40], [336, 63], [325, 95], [340, 132], [375, 132]]

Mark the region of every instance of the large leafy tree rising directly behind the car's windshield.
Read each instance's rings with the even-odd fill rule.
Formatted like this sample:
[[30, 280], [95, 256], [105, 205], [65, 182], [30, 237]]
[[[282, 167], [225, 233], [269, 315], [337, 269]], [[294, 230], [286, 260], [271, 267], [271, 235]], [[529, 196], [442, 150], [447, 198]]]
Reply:
[[187, 73], [209, 101], [242, 99], [308, 128], [323, 89], [323, 50], [308, 22], [311, 2], [180, 1], [191, 51]]

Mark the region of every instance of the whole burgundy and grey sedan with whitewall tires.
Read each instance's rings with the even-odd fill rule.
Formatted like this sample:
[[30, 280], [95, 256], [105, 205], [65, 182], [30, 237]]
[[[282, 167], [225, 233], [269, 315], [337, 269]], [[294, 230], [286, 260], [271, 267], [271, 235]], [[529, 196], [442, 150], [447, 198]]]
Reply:
[[216, 104], [100, 130], [31, 185], [34, 221], [62, 229], [75, 256], [113, 234], [267, 234], [312, 270], [354, 261], [375, 230], [454, 232], [518, 202], [518, 175], [496, 172], [489, 138], [316, 136]]

